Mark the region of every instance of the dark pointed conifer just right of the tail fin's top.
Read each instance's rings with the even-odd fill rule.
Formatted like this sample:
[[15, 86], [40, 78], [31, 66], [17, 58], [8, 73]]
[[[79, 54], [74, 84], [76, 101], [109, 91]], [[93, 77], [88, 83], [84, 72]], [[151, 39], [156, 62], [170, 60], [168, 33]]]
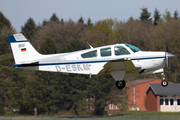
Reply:
[[36, 24], [34, 20], [30, 17], [24, 26], [21, 26], [21, 32], [27, 37], [27, 39], [32, 40], [35, 32], [36, 32]]

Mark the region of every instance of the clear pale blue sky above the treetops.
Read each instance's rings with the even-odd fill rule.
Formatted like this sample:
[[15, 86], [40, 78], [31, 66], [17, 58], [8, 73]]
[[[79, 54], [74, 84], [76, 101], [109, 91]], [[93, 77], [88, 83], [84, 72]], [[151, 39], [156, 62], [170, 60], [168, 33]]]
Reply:
[[175, 10], [180, 13], [180, 0], [0, 0], [0, 11], [16, 32], [21, 32], [21, 26], [30, 17], [37, 25], [44, 19], [49, 20], [53, 13], [64, 21], [77, 22], [81, 16], [85, 23], [88, 18], [93, 23], [108, 18], [124, 21], [131, 16], [139, 19], [144, 7], [151, 12], [151, 17], [155, 8], [160, 14], [167, 9], [173, 16]]

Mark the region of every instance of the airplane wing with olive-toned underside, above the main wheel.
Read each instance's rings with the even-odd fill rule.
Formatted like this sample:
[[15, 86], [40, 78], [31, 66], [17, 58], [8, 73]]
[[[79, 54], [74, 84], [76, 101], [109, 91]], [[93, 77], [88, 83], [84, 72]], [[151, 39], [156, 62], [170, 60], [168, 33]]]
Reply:
[[108, 61], [104, 68], [98, 73], [98, 75], [110, 74], [111, 71], [122, 71], [130, 72], [133, 70], [140, 69], [140, 66], [135, 66], [132, 61], [128, 58], [116, 59]]

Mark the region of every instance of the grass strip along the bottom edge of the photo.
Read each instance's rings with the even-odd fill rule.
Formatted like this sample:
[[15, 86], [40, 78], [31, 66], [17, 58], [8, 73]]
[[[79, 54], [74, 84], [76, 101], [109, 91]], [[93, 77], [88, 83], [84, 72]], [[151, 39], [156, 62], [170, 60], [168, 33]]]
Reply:
[[180, 120], [180, 113], [128, 112], [113, 116], [0, 116], [0, 120]]

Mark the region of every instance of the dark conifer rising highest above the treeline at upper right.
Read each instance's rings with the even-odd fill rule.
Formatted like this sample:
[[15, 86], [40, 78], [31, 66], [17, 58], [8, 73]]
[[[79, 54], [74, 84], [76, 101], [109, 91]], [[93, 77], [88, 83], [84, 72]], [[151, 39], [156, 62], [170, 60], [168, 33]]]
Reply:
[[144, 21], [151, 22], [151, 20], [152, 20], [152, 18], [150, 18], [151, 13], [148, 12], [147, 8], [141, 8], [141, 10], [142, 10], [142, 13], [140, 16], [141, 22], [144, 22]]

